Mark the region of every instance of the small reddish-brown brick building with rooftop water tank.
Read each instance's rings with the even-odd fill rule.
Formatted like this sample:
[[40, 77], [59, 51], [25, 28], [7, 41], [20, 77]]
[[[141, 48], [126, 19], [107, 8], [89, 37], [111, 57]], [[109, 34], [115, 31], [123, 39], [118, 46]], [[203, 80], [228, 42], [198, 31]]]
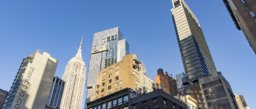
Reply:
[[[177, 81], [170, 77], [167, 72], [163, 73], [163, 69], [158, 69], [158, 74], [155, 78], [156, 88], [161, 87], [159, 85], [163, 84], [163, 91], [170, 94], [171, 96], [176, 96], [178, 93]], [[158, 85], [158, 86], [157, 86]]]

